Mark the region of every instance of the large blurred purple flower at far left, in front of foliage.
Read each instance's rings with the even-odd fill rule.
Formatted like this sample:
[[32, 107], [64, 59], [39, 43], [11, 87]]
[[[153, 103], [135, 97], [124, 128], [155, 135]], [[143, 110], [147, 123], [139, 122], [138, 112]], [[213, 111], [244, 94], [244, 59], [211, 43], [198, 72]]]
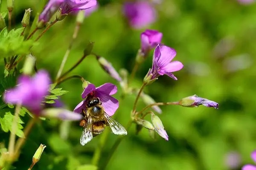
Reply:
[[18, 85], [6, 91], [4, 100], [6, 103], [21, 104], [39, 115], [42, 110], [41, 102], [49, 93], [49, 84], [49, 75], [44, 70], [38, 71], [32, 78], [22, 75], [18, 79]]

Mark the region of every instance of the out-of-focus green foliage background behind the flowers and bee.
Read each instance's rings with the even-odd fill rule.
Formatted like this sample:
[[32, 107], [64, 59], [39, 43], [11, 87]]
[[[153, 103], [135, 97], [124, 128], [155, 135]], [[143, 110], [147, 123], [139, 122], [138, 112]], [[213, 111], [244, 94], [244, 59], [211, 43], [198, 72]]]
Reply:
[[[6, 10], [5, 3], [2, 2], [1, 11]], [[99, 0], [99, 9], [85, 18], [81, 26], [64, 71], [82, 56], [89, 40], [95, 42], [93, 52], [112, 62], [116, 70], [132, 70], [140, 48], [140, 33], [145, 29], [128, 27], [122, 14], [122, 3]], [[25, 9], [33, 10], [32, 21], [36, 12], [41, 11], [42, 4], [42, 0], [15, 0], [13, 22], [16, 27], [20, 27]], [[175, 60], [183, 62], [184, 68], [175, 73], [177, 81], [167, 76], [160, 77], [145, 88], [145, 93], [157, 102], [177, 101], [197, 94], [218, 102], [219, 109], [161, 107], [163, 113], [159, 117], [169, 141], [160, 136], [156, 140], [151, 139], [146, 129], [135, 135], [133, 125], [106, 169], [229, 170], [232, 169], [227, 165], [230, 153], [238, 153], [241, 158], [234, 170], [241, 169], [243, 164], [253, 163], [250, 153], [256, 148], [256, 4], [245, 6], [236, 0], [163, 0], [155, 8], [157, 21], [147, 28], [163, 33], [162, 42], [175, 48]], [[32, 48], [38, 59], [38, 69], [47, 69], [52, 79], [71, 40], [75, 20], [75, 16], [68, 16], [56, 23]], [[152, 52], [137, 72], [131, 84], [133, 87], [141, 86], [143, 77], [151, 68], [151, 61]], [[121, 90], [94, 56], [84, 59], [70, 75], [75, 74], [96, 86], [111, 82]], [[70, 91], [61, 97], [61, 101], [73, 110], [81, 102], [81, 81], [71, 79], [61, 87]], [[120, 95], [119, 91], [115, 97], [120, 99]], [[128, 95], [120, 101], [114, 118], [122, 125], [130, 119], [134, 99], [134, 95]], [[144, 106], [139, 101], [138, 107]], [[22, 119], [27, 122], [28, 116]], [[79, 122], [67, 124], [51, 119], [36, 125], [14, 166], [18, 170], [26, 170], [41, 143], [47, 147], [34, 170], [75, 170], [79, 164], [90, 164], [101, 135], [81, 146]], [[117, 138], [108, 133], [99, 164], [107, 159]], [[0, 142], [7, 144], [8, 139], [9, 134], [0, 132]]]

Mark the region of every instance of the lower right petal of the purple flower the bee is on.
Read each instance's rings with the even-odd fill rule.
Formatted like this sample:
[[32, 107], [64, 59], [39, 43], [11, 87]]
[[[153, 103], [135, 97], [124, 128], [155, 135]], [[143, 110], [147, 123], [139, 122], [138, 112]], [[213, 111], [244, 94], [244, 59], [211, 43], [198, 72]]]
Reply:
[[102, 93], [97, 93], [96, 96], [99, 97], [100, 101], [102, 102], [102, 107], [104, 108], [108, 116], [113, 116], [113, 114], [119, 107], [118, 100], [113, 98], [112, 96]]

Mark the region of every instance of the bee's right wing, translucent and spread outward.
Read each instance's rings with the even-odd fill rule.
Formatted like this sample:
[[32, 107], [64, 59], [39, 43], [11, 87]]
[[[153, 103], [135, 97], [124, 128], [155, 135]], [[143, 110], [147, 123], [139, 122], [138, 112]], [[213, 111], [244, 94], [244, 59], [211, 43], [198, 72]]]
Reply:
[[108, 116], [107, 113], [104, 114], [105, 119], [108, 122], [111, 131], [116, 135], [127, 135], [127, 131], [125, 127], [123, 127], [120, 123], [116, 122], [112, 117]]

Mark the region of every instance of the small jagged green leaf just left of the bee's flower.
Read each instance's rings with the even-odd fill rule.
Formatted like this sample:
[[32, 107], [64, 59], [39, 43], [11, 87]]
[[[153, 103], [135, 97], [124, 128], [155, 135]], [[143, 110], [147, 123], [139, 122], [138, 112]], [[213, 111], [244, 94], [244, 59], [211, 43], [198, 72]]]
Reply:
[[52, 95], [45, 96], [45, 99], [49, 99], [46, 101], [46, 103], [53, 104], [55, 103], [54, 100], [58, 99], [58, 96], [62, 96], [63, 94], [68, 93], [68, 91], [62, 90], [62, 88], [55, 88], [56, 85], [57, 85], [56, 83], [50, 85], [49, 92]]

